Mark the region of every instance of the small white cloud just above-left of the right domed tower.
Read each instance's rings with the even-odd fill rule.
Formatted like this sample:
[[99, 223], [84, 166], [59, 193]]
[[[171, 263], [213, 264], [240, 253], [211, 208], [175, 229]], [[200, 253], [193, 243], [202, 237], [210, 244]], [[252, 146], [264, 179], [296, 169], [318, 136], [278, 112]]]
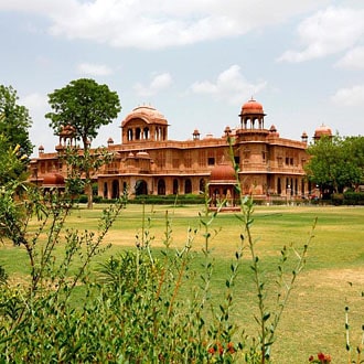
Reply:
[[216, 99], [226, 100], [231, 104], [240, 104], [242, 100], [258, 94], [267, 86], [266, 82], [251, 84], [245, 79], [238, 65], [232, 65], [223, 71], [215, 82], [202, 81], [191, 86], [195, 94], [212, 95]]

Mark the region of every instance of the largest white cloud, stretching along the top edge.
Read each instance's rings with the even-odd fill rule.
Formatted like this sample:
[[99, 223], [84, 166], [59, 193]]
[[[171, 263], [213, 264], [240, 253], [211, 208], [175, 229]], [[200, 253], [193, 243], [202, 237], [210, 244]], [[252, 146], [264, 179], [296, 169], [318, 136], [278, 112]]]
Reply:
[[328, 1], [0, 0], [0, 10], [40, 13], [50, 19], [50, 33], [57, 36], [162, 49], [245, 34]]

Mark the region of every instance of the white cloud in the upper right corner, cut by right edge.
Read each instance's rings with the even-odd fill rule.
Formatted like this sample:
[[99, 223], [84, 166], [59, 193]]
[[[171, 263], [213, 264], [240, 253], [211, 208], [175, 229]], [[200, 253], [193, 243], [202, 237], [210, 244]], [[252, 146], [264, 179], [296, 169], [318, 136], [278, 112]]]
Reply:
[[364, 10], [330, 7], [298, 28], [302, 51], [287, 51], [278, 61], [303, 62], [345, 51], [364, 35]]

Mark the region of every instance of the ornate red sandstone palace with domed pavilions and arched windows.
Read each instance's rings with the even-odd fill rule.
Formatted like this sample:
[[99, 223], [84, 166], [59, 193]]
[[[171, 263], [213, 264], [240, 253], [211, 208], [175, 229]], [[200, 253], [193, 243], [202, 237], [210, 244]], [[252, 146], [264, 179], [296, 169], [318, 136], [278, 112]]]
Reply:
[[[121, 122], [121, 143], [111, 138], [107, 141], [114, 158], [93, 175], [98, 195], [116, 199], [125, 189], [133, 195], [199, 194], [208, 185], [213, 199], [234, 199], [234, 158], [244, 194], [257, 199], [308, 196], [311, 186], [303, 170], [307, 133], [301, 140], [281, 138], [275, 126], [266, 128], [265, 116], [261, 104], [250, 99], [242, 107], [236, 129], [226, 127], [217, 138], [201, 138], [194, 130], [191, 140], [178, 141], [169, 140], [169, 124], [161, 113], [139, 106]], [[314, 138], [326, 132], [331, 130], [321, 127]], [[39, 157], [31, 161], [31, 181], [43, 188], [64, 186], [67, 169], [60, 152], [73, 143], [73, 129], [66, 126], [56, 152], [45, 153], [40, 147]]]

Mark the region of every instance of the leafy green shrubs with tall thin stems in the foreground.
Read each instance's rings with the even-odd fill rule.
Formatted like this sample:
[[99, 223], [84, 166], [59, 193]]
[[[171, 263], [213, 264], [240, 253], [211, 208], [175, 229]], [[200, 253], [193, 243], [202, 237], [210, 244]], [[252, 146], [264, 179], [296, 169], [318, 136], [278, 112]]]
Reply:
[[[223, 287], [217, 287], [223, 292], [218, 301], [212, 289], [216, 275], [212, 240], [221, 228], [215, 227], [218, 210], [208, 211], [207, 199], [199, 226], [188, 228], [183, 248], [172, 247], [173, 216], [167, 212], [164, 248], [154, 249], [152, 217], [146, 217], [143, 208], [136, 249], [106, 259], [98, 271], [93, 270], [92, 261], [107, 248], [101, 243], [125, 201], [103, 212], [97, 233], [67, 228], [69, 201], [56, 193], [44, 196], [34, 191], [32, 199], [13, 205], [21, 214], [13, 215], [11, 224], [17, 228], [9, 232], [14, 232], [12, 240], [28, 254], [30, 282], [2, 285], [0, 362], [270, 361], [276, 330], [304, 266], [308, 244], [301, 251], [282, 248], [277, 268], [277, 302], [271, 308], [271, 292], [253, 238], [254, 204], [249, 196], [240, 200], [237, 221], [242, 234], [229, 272]], [[39, 218], [35, 231], [29, 227], [31, 216]], [[202, 251], [193, 249], [199, 235], [204, 243]], [[55, 254], [60, 248], [64, 253]], [[244, 322], [232, 315], [244, 251], [251, 257], [258, 307], [254, 318], [257, 333], [253, 338], [244, 333]], [[291, 259], [289, 251], [296, 259], [293, 272], [285, 268]], [[201, 253], [202, 267], [196, 269], [194, 264]]]

